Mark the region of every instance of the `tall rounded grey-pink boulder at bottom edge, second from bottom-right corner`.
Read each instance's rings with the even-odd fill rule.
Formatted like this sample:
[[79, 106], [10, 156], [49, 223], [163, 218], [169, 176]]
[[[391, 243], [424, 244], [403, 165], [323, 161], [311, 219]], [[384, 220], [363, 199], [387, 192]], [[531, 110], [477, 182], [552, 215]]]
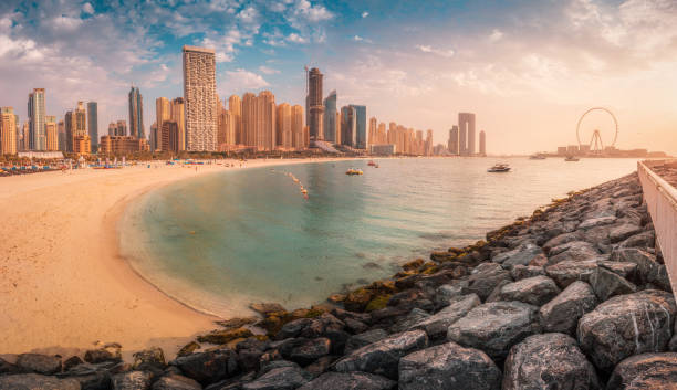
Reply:
[[563, 334], [527, 337], [506, 359], [503, 390], [601, 389], [576, 340]]

